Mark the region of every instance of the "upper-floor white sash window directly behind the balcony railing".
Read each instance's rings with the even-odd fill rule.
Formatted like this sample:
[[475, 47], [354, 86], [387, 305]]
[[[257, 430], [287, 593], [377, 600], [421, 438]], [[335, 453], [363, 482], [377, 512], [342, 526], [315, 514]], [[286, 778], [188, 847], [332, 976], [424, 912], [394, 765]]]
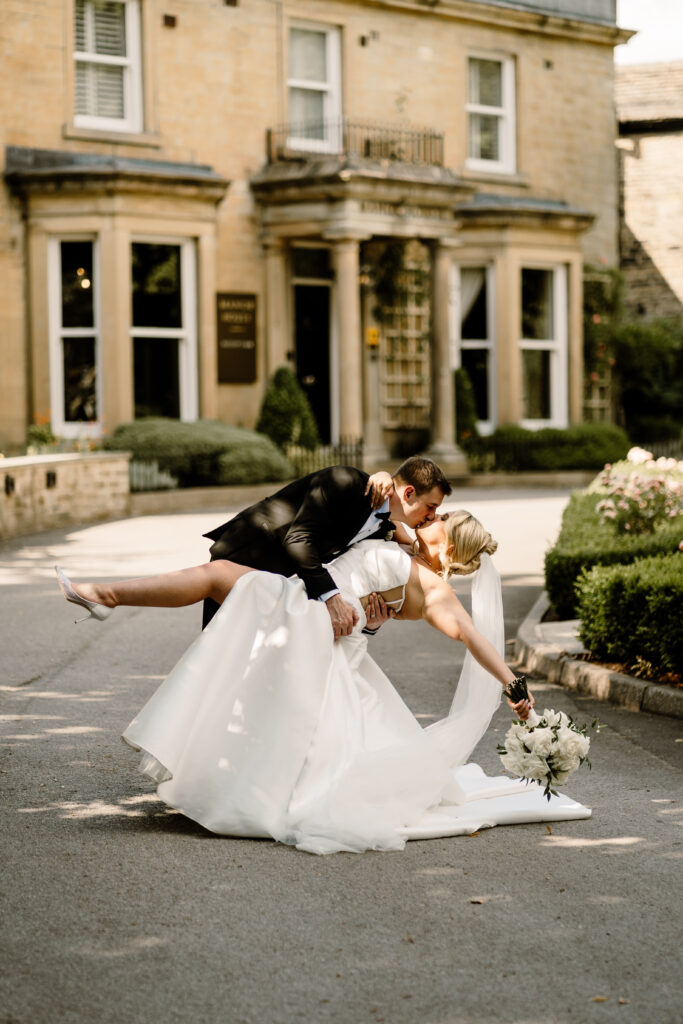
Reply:
[[341, 147], [339, 29], [294, 24], [289, 32], [289, 145], [304, 152]]

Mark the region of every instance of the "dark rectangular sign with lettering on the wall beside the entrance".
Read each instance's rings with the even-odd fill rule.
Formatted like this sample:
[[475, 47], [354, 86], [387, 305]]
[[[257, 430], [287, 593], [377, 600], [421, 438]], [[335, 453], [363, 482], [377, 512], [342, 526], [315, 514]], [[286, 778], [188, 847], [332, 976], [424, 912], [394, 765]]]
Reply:
[[256, 380], [256, 296], [216, 293], [218, 383], [253, 384]]

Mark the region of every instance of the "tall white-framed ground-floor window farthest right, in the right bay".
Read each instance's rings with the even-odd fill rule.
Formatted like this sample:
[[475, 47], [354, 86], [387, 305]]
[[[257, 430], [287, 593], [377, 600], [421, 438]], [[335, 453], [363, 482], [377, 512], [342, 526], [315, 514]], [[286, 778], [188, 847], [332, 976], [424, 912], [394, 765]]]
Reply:
[[521, 268], [522, 425], [565, 427], [567, 400], [566, 268]]

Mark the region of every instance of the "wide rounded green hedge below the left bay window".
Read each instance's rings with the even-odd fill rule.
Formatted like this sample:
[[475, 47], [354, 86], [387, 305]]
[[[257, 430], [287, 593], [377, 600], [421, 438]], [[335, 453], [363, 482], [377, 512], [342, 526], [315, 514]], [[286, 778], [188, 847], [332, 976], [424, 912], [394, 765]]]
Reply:
[[272, 441], [216, 420], [181, 423], [150, 417], [117, 427], [109, 447], [156, 462], [181, 487], [291, 479], [292, 466]]

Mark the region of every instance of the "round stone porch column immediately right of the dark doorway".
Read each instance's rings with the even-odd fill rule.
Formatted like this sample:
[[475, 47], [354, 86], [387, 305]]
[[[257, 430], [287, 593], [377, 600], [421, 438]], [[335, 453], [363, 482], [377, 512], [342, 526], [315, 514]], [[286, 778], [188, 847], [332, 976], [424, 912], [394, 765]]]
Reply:
[[360, 339], [360, 285], [358, 239], [333, 242], [338, 325], [337, 370], [339, 381], [339, 432], [342, 437], [362, 436], [362, 348]]

